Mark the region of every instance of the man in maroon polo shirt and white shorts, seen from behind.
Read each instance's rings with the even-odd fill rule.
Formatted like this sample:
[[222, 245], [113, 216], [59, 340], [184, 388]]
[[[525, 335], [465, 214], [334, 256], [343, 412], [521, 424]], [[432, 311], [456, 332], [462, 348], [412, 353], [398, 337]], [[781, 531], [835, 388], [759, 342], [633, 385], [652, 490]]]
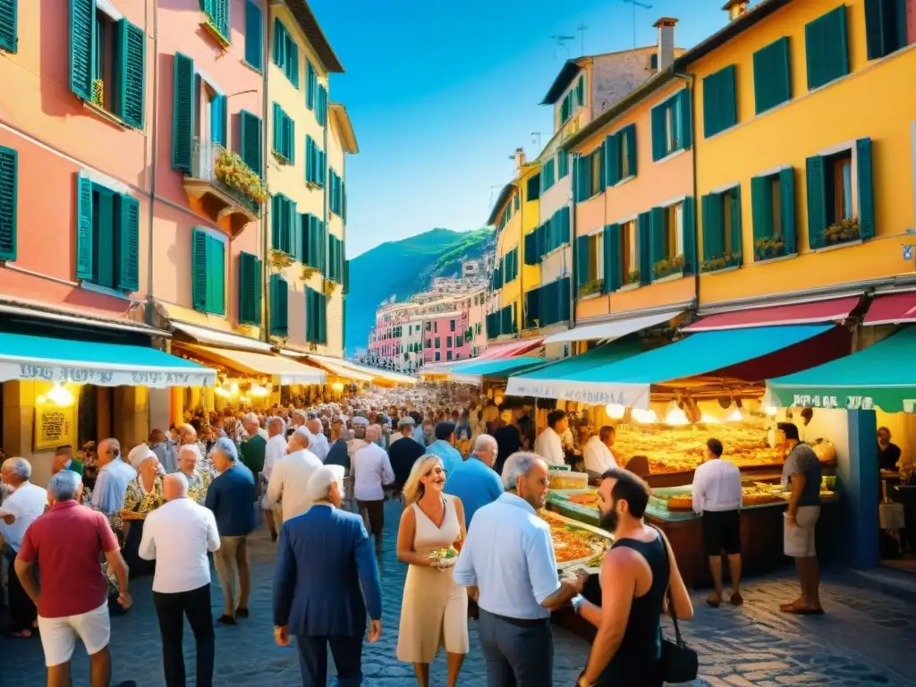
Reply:
[[[109, 687], [112, 660], [108, 650], [111, 623], [108, 589], [99, 565], [104, 553], [108, 569], [117, 577], [118, 603], [130, 606], [127, 564], [117, 538], [102, 513], [81, 506], [82, 478], [71, 470], [51, 477], [51, 507], [26, 530], [16, 556], [16, 575], [38, 606], [38, 632], [48, 666], [48, 687], [71, 684], [70, 660], [76, 638], [89, 654], [92, 687]], [[41, 571], [41, 584], [35, 564]], [[120, 682], [119, 687], [136, 687]]]

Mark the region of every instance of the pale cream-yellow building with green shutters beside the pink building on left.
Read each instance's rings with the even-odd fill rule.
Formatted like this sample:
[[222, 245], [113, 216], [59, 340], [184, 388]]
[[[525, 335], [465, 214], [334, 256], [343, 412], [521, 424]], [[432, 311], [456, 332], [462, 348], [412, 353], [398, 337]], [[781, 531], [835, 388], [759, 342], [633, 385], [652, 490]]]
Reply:
[[356, 152], [328, 78], [344, 67], [305, 3], [270, 3], [267, 326], [293, 351], [344, 352], [344, 154]]

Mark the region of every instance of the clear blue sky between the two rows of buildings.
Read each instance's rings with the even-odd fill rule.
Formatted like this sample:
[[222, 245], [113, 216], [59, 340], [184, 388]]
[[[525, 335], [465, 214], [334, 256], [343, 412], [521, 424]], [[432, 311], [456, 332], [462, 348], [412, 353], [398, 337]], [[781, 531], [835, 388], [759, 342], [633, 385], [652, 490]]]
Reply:
[[[720, 27], [724, 0], [640, 0], [637, 43], [676, 16], [678, 47]], [[539, 105], [570, 57], [633, 47], [633, 5], [623, 0], [311, 0], [345, 74], [344, 103], [360, 153], [347, 158], [347, 257], [443, 226], [482, 226], [512, 177], [517, 147], [529, 158], [551, 137]], [[345, 9], [344, 9], [345, 7]]]

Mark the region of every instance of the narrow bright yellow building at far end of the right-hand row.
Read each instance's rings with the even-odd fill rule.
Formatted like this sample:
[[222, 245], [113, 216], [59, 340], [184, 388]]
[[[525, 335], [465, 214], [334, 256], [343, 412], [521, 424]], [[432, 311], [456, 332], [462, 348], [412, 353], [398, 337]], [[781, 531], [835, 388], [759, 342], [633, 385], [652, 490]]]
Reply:
[[496, 265], [486, 316], [486, 337], [491, 344], [529, 338], [540, 326], [540, 267], [525, 262], [525, 239], [540, 224], [540, 166], [527, 162], [521, 148], [515, 160], [516, 178], [500, 191], [486, 223], [496, 227]]

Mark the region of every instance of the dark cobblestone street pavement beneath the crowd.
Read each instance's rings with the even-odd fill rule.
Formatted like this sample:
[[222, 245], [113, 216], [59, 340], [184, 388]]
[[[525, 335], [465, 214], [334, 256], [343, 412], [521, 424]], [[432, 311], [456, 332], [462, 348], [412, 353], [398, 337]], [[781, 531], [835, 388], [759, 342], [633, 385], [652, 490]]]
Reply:
[[[409, 665], [395, 658], [400, 592], [404, 567], [395, 560], [399, 508], [387, 505], [383, 636], [366, 645], [365, 684], [409, 687]], [[299, 661], [295, 649], [280, 649], [273, 642], [270, 617], [273, 545], [263, 533], [249, 545], [254, 573], [251, 618], [237, 627], [216, 628], [217, 685], [232, 687], [295, 687]], [[164, 684], [158, 625], [149, 592], [151, 580], [132, 586], [135, 605], [125, 616], [112, 620], [114, 680], [133, 679], [139, 687]], [[219, 615], [222, 596], [213, 585], [213, 616]], [[777, 687], [778, 685], [889, 684], [916, 686], [905, 677], [911, 668], [912, 640], [916, 637], [916, 606], [867, 589], [845, 577], [828, 578], [823, 589], [825, 616], [785, 616], [775, 610], [796, 594], [787, 575], [750, 583], [742, 608], [711, 609], [703, 603], [705, 592], [694, 594], [694, 620], [685, 623], [688, 642], [700, 652], [703, 683], [712, 687]], [[671, 634], [669, 632], [669, 634]], [[186, 663], [193, 670], [190, 629], [186, 629]], [[554, 682], [572, 685], [582, 670], [588, 646], [583, 640], [554, 627]], [[44, 664], [37, 640], [0, 640], [0, 687], [38, 687], [44, 683]], [[88, 685], [88, 661], [77, 649], [74, 685]], [[443, 685], [442, 659], [432, 668], [432, 684]], [[193, 682], [189, 682], [192, 684]], [[484, 660], [471, 623], [471, 652], [464, 663], [461, 684], [485, 685]]]

